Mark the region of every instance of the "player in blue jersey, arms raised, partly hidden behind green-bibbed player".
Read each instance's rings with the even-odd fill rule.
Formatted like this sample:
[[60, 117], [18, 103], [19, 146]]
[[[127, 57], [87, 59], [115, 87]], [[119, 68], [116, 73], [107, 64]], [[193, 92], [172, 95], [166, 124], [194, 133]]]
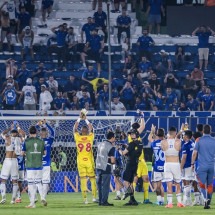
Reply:
[[38, 123], [40, 129], [40, 137], [45, 142], [46, 154], [43, 155], [43, 171], [42, 171], [42, 197], [41, 199], [44, 206], [47, 206], [46, 195], [49, 190], [50, 173], [51, 173], [51, 147], [54, 142], [55, 132], [54, 129], [45, 121], [42, 120]]

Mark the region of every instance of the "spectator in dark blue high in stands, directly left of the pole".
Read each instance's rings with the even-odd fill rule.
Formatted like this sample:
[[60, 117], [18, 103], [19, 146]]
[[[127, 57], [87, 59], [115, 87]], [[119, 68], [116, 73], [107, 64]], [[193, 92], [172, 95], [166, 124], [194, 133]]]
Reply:
[[94, 13], [93, 17], [98, 29], [104, 33], [104, 42], [107, 43], [107, 14], [102, 10], [102, 6], [98, 7], [98, 11]]

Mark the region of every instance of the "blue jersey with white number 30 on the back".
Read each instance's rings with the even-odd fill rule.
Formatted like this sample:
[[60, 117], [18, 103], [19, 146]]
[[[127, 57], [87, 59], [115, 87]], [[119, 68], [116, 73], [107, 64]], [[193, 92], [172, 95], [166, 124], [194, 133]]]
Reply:
[[163, 172], [165, 157], [164, 157], [164, 152], [161, 149], [161, 140], [153, 141], [151, 143], [151, 148], [153, 150], [154, 158], [155, 158], [153, 170], [155, 172]]

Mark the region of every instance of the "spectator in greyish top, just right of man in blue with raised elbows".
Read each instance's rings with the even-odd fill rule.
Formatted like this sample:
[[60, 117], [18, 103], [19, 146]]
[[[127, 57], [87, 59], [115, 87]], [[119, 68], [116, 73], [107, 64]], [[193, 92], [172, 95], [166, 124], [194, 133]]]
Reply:
[[66, 60], [70, 59], [71, 56], [76, 55], [77, 52], [77, 44], [78, 44], [78, 38], [76, 33], [74, 32], [73, 27], [69, 27], [68, 34], [65, 38], [66, 41]]

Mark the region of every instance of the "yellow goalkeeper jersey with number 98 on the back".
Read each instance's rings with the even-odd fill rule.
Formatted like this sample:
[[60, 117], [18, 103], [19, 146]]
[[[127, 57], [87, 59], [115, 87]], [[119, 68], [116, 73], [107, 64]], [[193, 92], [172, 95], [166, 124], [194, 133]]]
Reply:
[[78, 163], [94, 162], [92, 150], [94, 133], [89, 133], [89, 135], [80, 135], [78, 132], [75, 132], [74, 138], [77, 147]]

